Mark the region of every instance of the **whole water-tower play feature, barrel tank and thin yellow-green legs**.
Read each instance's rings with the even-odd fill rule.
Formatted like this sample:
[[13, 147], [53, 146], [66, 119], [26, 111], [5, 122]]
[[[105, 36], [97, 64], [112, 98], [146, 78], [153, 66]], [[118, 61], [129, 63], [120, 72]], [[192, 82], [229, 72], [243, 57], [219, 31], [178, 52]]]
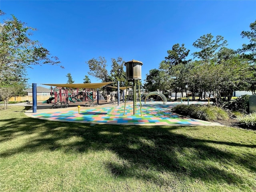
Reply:
[[[142, 104], [140, 98], [140, 80], [141, 80], [141, 66], [143, 65], [142, 62], [137, 60], [131, 60], [124, 64], [126, 66], [126, 93], [128, 82], [133, 82], [133, 114], [136, 114], [136, 84], [138, 82], [138, 92], [139, 92], [139, 99], [140, 99], [140, 116], [142, 116]], [[127, 94], [126, 94], [127, 95]], [[125, 114], [125, 106], [126, 106], [126, 96], [125, 96], [125, 103], [124, 103], [124, 114]]]

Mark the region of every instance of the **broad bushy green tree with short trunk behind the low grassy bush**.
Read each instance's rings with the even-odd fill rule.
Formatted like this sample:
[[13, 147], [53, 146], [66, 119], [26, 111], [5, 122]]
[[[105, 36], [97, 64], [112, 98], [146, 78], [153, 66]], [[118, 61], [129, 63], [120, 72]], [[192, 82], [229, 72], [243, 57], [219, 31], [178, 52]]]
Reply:
[[[246, 90], [250, 86], [253, 72], [248, 60], [235, 55], [227, 60], [194, 61], [188, 69], [187, 81], [191, 91], [200, 86], [214, 96], [216, 105], [219, 106], [220, 98], [224, 93], [234, 90]], [[226, 96], [226, 95], [225, 95]], [[228, 95], [229, 99], [231, 95]]]

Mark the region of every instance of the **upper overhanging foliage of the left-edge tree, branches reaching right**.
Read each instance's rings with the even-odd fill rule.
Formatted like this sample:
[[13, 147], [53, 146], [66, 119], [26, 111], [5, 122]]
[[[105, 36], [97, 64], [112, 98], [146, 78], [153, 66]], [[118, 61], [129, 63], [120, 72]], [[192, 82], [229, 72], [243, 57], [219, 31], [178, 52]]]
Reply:
[[[18, 21], [13, 15], [12, 19], [0, 24], [0, 72], [24, 72], [22, 69], [32, 65], [60, 64], [58, 58], [50, 56], [50, 52], [38, 41], [29, 38], [31, 31], [35, 30], [25, 26], [25, 23]], [[20, 73], [18, 75], [26, 76]]]

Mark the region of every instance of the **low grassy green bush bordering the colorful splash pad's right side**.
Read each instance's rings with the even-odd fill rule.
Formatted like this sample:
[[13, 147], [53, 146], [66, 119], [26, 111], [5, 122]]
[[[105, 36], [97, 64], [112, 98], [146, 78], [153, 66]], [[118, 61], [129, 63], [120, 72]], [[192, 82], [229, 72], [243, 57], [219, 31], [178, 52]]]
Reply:
[[206, 121], [227, 120], [229, 118], [227, 111], [212, 105], [180, 104], [175, 106], [172, 110], [185, 116], [190, 116], [192, 118]]

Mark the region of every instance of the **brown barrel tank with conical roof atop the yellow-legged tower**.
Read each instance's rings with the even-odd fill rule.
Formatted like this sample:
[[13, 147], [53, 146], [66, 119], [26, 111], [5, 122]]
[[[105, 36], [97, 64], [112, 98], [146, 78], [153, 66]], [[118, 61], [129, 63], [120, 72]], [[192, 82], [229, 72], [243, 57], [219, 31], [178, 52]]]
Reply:
[[141, 66], [142, 62], [131, 60], [124, 64], [126, 66], [126, 79], [127, 80], [141, 80]]

